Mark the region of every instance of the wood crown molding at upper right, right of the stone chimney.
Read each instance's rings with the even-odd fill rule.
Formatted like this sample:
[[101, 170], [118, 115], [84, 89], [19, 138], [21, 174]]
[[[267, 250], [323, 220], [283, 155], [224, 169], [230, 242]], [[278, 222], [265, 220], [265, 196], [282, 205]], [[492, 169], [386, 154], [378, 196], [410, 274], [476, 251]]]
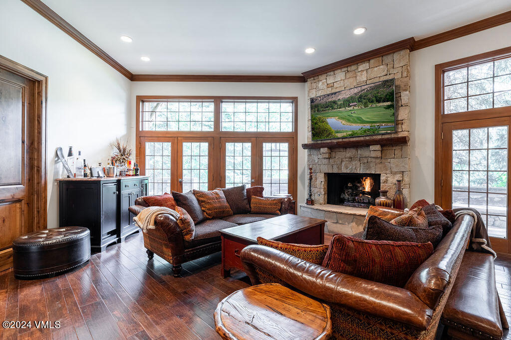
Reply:
[[440, 44], [449, 40], [461, 38], [473, 33], [481, 32], [487, 29], [491, 29], [505, 23], [511, 22], [511, 11], [507, 11], [501, 14], [491, 16], [476, 22], [469, 23], [467, 25], [438, 33], [430, 37], [416, 40], [413, 44], [412, 50], [417, 50], [436, 44]]

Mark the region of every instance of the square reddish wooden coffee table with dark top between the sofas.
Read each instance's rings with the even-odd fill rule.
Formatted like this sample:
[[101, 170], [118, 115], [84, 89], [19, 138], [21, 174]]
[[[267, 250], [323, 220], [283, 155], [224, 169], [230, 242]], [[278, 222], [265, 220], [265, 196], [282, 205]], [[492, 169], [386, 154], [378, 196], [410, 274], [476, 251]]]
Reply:
[[222, 237], [222, 277], [230, 275], [231, 268], [243, 269], [240, 252], [257, 238], [286, 243], [323, 244], [326, 220], [286, 214], [267, 220], [247, 223], [220, 230]]

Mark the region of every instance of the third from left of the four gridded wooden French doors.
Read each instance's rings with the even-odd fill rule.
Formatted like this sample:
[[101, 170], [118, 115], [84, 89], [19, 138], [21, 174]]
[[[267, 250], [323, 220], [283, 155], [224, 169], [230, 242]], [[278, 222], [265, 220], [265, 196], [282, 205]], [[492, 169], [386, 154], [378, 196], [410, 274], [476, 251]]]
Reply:
[[220, 187], [255, 185], [257, 177], [255, 138], [220, 139]]

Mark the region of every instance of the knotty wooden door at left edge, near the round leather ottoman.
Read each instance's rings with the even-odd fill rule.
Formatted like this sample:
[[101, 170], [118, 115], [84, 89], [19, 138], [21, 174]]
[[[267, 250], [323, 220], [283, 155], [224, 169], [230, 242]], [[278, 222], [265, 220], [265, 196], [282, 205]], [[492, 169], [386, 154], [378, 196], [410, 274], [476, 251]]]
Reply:
[[12, 266], [12, 241], [34, 229], [34, 88], [0, 66], [0, 270]]

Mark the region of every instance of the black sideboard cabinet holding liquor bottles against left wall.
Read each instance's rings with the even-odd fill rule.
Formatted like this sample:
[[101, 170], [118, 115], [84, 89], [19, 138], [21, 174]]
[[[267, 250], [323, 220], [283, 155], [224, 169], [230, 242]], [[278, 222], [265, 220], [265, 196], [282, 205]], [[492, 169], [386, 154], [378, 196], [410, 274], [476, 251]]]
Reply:
[[103, 251], [140, 230], [128, 211], [147, 195], [147, 176], [59, 179], [59, 226], [90, 230], [90, 247]]

